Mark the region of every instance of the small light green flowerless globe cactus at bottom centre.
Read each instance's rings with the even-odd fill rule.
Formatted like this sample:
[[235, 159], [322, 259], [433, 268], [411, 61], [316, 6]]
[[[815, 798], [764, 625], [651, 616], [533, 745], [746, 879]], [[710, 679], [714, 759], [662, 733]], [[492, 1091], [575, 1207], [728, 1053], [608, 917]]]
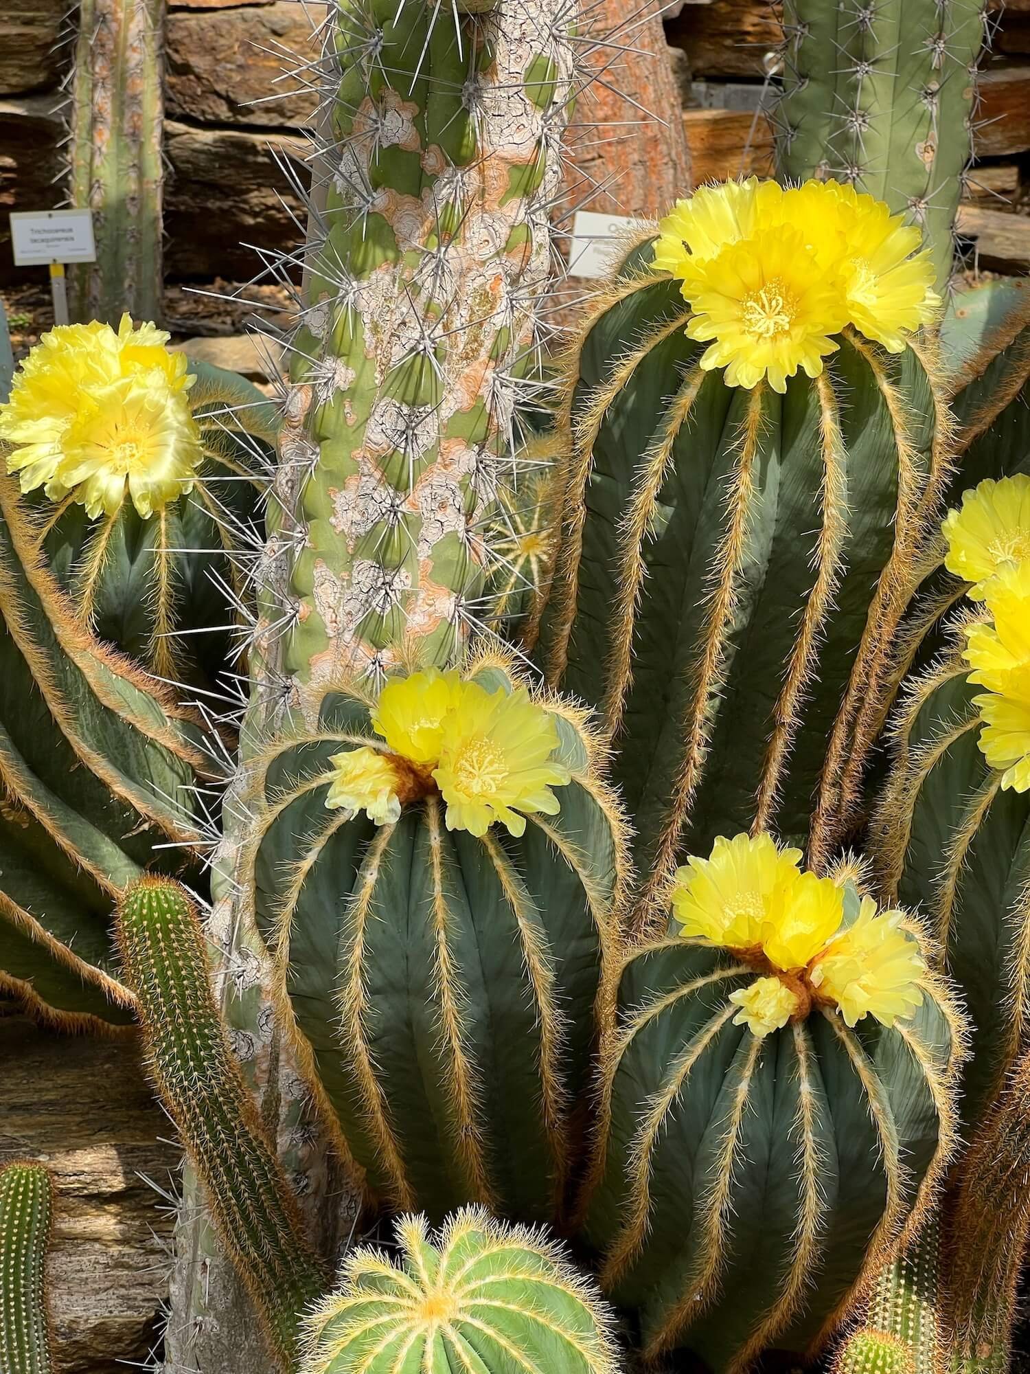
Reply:
[[559, 1246], [479, 1208], [430, 1235], [397, 1221], [398, 1261], [361, 1248], [306, 1319], [302, 1374], [617, 1374], [613, 1315]]

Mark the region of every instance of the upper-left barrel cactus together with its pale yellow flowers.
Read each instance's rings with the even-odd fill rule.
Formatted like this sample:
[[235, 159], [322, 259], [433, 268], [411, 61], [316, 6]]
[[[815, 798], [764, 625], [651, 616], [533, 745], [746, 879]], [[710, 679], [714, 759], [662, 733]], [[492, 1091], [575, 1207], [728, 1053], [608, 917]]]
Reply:
[[168, 341], [128, 315], [117, 333], [44, 334], [0, 407], [0, 442], [82, 625], [161, 677], [210, 683], [243, 649], [279, 422], [257, 387]]

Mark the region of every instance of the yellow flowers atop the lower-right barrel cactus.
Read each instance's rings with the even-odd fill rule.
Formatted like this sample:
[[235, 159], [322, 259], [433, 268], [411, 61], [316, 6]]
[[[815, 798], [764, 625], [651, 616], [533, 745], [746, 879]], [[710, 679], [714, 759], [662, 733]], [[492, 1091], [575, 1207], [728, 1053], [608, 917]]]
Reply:
[[862, 897], [842, 929], [843, 888], [803, 872], [801, 857], [769, 835], [736, 835], [676, 872], [680, 933], [764, 971], [731, 993], [740, 1007], [735, 1024], [769, 1035], [805, 1017], [812, 1002], [836, 1007], [849, 1026], [867, 1015], [887, 1026], [911, 1015], [923, 1000], [926, 965], [904, 912], [878, 911]]

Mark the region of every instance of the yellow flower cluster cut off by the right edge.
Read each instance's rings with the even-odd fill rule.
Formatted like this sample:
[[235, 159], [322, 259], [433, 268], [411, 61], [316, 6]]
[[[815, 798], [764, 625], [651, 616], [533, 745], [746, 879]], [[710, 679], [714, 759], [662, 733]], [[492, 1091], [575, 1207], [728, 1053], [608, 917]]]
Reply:
[[1030, 789], [1030, 477], [981, 482], [943, 522], [945, 566], [972, 583], [990, 622], [967, 627], [964, 658], [983, 728], [979, 746], [1003, 787]]

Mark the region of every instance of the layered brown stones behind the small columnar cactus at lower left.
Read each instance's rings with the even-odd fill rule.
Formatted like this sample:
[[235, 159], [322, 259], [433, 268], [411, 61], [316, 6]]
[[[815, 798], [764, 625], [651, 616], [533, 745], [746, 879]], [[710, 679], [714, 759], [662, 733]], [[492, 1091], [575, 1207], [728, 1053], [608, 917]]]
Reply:
[[180, 1160], [137, 1040], [60, 1036], [3, 1017], [0, 1085], [0, 1162], [41, 1160], [54, 1175], [56, 1367], [118, 1374], [119, 1360], [147, 1358], [166, 1289], [170, 1217], [139, 1175], [168, 1186]]

